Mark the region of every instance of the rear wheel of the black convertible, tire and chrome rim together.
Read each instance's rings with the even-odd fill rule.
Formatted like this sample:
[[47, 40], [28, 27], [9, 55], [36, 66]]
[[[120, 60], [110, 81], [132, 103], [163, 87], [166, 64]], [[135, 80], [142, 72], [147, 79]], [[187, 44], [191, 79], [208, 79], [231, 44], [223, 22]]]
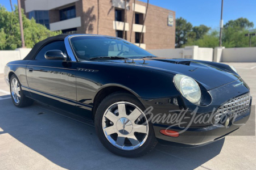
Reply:
[[16, 75], [11, 76], [10, 92], [11, 92], [11, 99], [13, 100], [13, 104], [16, 107], [19, 107], [19, 108], [28, 107], [34, 103], [34, 100], [26, 97], [23, 94], [22, 87]]

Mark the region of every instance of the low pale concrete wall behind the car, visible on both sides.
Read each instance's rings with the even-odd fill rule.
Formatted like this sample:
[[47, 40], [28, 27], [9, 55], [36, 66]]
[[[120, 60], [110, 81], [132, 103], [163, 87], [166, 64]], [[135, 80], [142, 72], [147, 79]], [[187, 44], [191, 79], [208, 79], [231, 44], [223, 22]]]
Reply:
[[[23, 59], [31, 49], [16, 49], [0, 51], [0, 74], [10, 61]], [[256, 47], [251, 48], [199, 48], [199, 46], [185, 46], [176, 49], [148, 50], [158, 57], [189, 58], [214, 62], [256, 62]]]

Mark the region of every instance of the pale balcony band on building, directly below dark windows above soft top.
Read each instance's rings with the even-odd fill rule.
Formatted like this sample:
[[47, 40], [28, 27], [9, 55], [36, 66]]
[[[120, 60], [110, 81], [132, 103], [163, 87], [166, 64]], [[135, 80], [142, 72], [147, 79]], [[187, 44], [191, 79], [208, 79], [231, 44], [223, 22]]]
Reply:
[[51, 31], [81, 27], [81, 17], [79, 16], [76, 18], [61, 20], [60, 22], [50, 23], [49, 26]]

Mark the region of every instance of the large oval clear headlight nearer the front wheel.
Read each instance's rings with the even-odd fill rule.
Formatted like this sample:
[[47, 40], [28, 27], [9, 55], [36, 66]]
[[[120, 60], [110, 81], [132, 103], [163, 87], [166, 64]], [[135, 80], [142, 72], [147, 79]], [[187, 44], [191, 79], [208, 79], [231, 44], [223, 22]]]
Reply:
[[197, 82], [189, 76], [176, 74], [174, 83], [177, 90], [191, 103], [197, 103], [201, 99], [201, 90]]

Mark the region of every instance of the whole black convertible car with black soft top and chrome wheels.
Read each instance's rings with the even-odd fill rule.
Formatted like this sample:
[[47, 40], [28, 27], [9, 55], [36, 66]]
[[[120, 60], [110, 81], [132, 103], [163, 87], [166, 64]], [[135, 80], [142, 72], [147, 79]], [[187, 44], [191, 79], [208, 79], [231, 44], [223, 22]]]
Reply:
[[110, 36], [49, 37], [9, 62], [5, 80], [16, 107], [35, 100], [88, 118], [102, 145], [126, 157], [158, 142], [217, 141], [244, 125], [251, 110], [249, 87], [234, 67], [159, 58]]

